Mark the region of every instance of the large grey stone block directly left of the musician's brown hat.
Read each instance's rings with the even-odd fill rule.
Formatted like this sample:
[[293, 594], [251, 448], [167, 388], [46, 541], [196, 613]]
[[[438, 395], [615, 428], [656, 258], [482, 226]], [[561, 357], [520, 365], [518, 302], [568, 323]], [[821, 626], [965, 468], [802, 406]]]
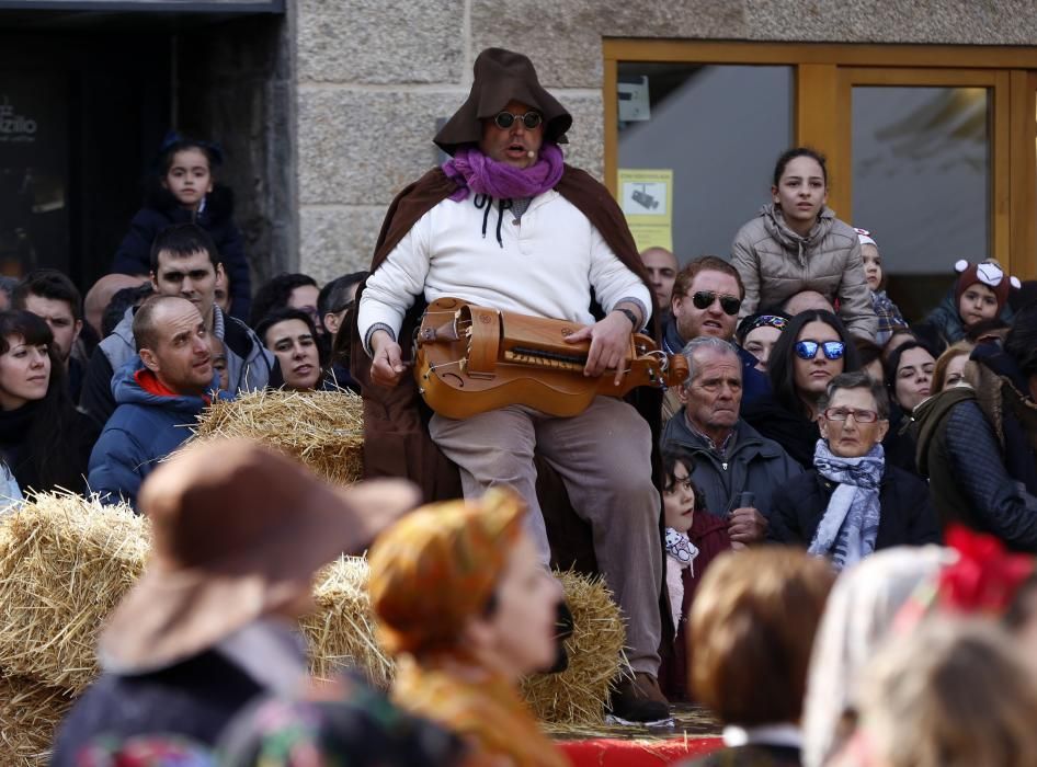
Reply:
[[466, 95], [301, 89], [301, 204], [388, 205], [436, 163], [436, 119], [454, 114]]

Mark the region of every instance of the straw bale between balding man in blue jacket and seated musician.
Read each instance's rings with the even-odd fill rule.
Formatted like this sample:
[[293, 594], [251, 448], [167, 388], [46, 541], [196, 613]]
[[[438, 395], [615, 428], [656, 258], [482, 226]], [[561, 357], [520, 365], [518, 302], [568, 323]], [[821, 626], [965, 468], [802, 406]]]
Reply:
[[363, 400], [351, 391], [254, 391], [218, 400], [198, 419], [195, 438], [220, 437], [282, 450], [334, 484], [363, 476]]

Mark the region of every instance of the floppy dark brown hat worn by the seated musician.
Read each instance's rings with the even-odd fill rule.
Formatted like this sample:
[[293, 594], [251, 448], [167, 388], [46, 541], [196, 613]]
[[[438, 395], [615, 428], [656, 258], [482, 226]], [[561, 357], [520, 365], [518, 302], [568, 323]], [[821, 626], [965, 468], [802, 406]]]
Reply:
[[487, 48], [476, 59], [475, 80], [461, 107], [436, 134], [435, 145], [453, 156], [465, 144], [482, 139], [482, 122], [503, 110], [508, 102], [521, 101], [544, 117], [544, 140], [566, 144], [572, 116], [540, 85], [533, 61], [504, 48]]

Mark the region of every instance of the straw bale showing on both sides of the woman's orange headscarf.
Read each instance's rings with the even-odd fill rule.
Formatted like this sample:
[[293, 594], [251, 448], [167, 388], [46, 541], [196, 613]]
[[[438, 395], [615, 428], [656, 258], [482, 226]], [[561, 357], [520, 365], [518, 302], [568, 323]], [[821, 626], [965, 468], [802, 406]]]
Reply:
[[[367, 561], [343, 557], [320, 575], [314, 596], [318, 611], [303, 622], [310, 643], [310, 668], [328, 679], [354, 667], [379, 687], [392, 680], [394, 663], [374, 637], [367, 595]], [[542, 721], [556, 724], [601, 724], [609, 686], [619, 675], [626, 633], [619, 608], [600, 579], [557, 573], [572, 610], [573, 634], [567, 642], [569, 668], [536, 675], [523, 695]]]

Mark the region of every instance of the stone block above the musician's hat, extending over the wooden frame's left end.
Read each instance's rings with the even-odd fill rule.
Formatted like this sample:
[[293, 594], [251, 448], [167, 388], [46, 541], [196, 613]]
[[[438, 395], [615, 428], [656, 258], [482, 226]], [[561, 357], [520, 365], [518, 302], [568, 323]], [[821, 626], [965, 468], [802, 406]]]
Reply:
[[603, 37], [742, 37], [745, 0], [471, 2], [472, 56], [526, 54], [545, 85], [601, 88]]

